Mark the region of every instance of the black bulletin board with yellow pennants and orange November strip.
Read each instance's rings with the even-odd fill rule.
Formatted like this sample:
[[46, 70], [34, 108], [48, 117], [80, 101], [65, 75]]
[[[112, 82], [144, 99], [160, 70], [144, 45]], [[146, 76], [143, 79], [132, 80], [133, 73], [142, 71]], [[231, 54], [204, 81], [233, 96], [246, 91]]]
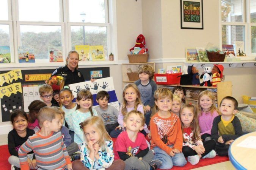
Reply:
[[[41, 69], [41, 70], [9, 70], [0, 71], [0, 95], [3, 91], [9, 91], [5, 95], [1, 95], [1, 115], [2, 122], [10, 121], [10, 114], [15, 109], [24, 110], [24, 102], [27, 102], [28, 97], [24, 98], [24, 94], [30, 95], [30, 100], [38, 99], [39, 93], [36, 94], [38, 86], [44, 84], [44, 80], [49, 79], [50, 75], [56, 69]], [[79, 68], [85, 80], [91, 78], [101, 79], [110, 77], [109, 67], [96, 67], [96, 68]], [[5, 75], [5, 77], [3, 77]], [[9, 81], [7, 80], [7, 77]], [[28, 86], [28, 88], [25, 88]], [[25, 93], [23, 92], [25, 90]], [[23, 94], [24, 93], [24, 94]], [[37, 96], [36, 96], [37, 95]], [[33, 99], [32, 99], [33, 97]], [[26, 100], [26, 101], [25, 101]], [[29, 101], [25, 107], [29, 105]], [[27, 111], [27, 110], [26, 110]]]

